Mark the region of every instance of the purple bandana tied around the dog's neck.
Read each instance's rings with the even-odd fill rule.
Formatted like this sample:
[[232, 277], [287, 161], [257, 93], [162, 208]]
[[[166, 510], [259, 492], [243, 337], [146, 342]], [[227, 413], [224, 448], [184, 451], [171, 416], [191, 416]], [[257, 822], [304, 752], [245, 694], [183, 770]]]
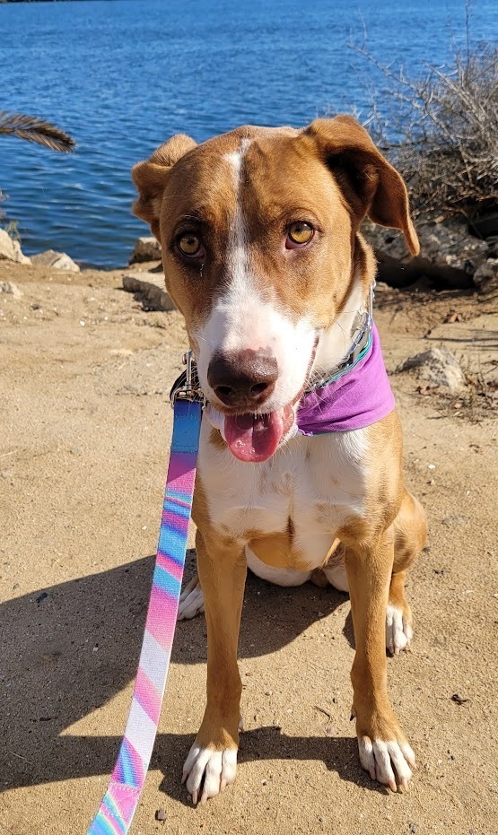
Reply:
[[394, 407], [379, 332], [372, 325], [370, 352], [342, 377], [305, 394], [297, 425], [301, 435], [363, 429], [386, 417]]

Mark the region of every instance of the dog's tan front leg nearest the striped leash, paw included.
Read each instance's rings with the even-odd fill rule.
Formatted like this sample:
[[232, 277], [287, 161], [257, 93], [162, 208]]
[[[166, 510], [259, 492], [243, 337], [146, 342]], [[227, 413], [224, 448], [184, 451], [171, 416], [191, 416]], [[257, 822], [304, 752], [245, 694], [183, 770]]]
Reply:
[[207, 704], [183, 768], [194, 804], [235, 779], [242, 691], [237, 646], [247, 573], [243, 546], [197, 531], [196, 547], [207, 623]]

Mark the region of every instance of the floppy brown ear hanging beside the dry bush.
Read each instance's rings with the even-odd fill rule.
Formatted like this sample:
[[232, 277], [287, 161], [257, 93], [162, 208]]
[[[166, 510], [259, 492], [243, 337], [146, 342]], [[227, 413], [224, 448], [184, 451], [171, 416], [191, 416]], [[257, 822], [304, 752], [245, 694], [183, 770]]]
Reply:
[[368, 214], [374, 223], [403, 230], [406, 246], [418, 255], [420, 245], [410, 217], [408, 195], [398, 171], [389, 165], [370, 136], [351, 116], [315, 119], [303, 135], [319, 147], [358, 222]]

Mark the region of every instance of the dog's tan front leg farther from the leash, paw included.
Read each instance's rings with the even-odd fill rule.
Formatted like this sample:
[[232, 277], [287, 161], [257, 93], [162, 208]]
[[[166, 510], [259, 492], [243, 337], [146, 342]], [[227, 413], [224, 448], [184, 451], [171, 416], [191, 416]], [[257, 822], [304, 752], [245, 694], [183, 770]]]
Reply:
[[371, 778], [406, 788], [415, 754], [391, 708], [387, 688], [386, 608], [394, 561], [392, 527], [373, 544], [346, 547], [356, 655], [351, 680], [353, 713], [363, 768]]

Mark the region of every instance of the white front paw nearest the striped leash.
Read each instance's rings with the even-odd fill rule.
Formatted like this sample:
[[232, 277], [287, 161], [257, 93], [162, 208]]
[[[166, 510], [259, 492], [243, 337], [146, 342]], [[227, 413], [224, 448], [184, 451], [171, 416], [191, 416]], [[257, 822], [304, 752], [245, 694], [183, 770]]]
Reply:
[[223, 792], [224, 788], [233, 782], [236, 773], [237, 751], [235, 748], [213, 751], [211, 748], [203, 748], [194, 743], [183, 766], [181, 782], [187, 781], [192, 803], [197, 805], [197, 800], [205, 803], [209, 797], [215, 797]]

